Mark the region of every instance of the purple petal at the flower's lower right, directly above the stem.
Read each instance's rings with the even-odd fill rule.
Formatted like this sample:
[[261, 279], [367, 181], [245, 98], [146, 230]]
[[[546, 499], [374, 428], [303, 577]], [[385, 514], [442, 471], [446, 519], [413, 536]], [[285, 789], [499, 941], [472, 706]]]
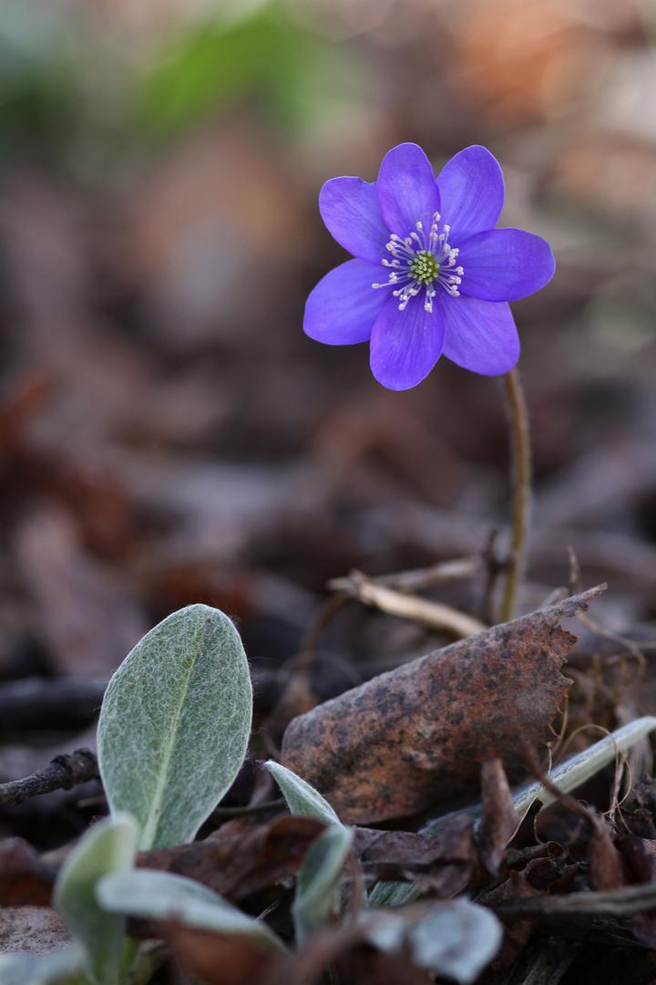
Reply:
[[519, 359], [519, 336], [505, 302], [440, 294], [447, 359], [484, 376], [509, 372]]

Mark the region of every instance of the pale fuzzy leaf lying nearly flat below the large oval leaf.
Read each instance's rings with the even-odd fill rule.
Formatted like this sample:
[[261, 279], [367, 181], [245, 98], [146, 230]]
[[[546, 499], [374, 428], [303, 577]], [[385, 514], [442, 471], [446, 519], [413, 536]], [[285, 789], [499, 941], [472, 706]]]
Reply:
[[179, 920], [187, 927], [253, 939], [269, 950], [284, 946], [268, 926], [192, 879], [169, 872], [135, 869], [106, 876], [96, 886], [102, 907], [145, 920]]

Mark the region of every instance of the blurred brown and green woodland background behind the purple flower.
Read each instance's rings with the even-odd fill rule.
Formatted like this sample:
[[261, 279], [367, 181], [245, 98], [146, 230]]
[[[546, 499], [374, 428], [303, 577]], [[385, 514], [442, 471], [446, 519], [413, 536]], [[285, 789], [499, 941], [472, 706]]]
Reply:
[[[329, 578], [503, 538], [500, 381], [441, 360], [391, 393], [367, 346], [302, 332], [346, 259], [321, 185], [375, 180], [402, 141], [436, 170], [486, 145], [502, 225], [556, 254], [513, 305], [536, 471], [522, 607], [567, 586], [571, 547], [584, 587], [610, 584], [613, 659], [649, 655], [655, 29], [653, 0], [1, 0], [0, 679], [101, 685], [201, 601], [237, 619], [266, 713]], [[484, 594], [482, 573], [432, 596], [480, 615]], [[317, 693], [448, 641], [349, 602]], [[602, 678], [617, 719], [628, 692]], [[1, 771], [24, 775], [3, 708]]]

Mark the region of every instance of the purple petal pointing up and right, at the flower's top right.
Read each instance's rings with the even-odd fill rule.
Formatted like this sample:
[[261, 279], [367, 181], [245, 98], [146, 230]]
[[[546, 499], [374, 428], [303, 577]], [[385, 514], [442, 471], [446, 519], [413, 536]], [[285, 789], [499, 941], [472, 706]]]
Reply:
[[501, 166], [485, 147], [460, 151], [438, 175], [442, 221], [451, 227], [448, 241], [458, 246], [474, 232], [494, 230], [504, 208], [506, 188]]

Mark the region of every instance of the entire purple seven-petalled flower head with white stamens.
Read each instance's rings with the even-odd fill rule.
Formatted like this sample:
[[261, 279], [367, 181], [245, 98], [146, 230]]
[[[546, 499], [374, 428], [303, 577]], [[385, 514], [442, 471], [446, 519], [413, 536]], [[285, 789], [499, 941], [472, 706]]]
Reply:
[[496, 230], [504, 176], [484, 147], [456, 154], [436, 178], [416, 144], [389, 151], [372, 184], [332, 178], [319, 207], [356, 257], [308, 297], [303, 328], [329, 346], [371, 342], [374, 376], [390, 390], [416, 386], [441, 355], [494, 376], [519, 357], [507, 301], [554, 275], [540, 236]]

